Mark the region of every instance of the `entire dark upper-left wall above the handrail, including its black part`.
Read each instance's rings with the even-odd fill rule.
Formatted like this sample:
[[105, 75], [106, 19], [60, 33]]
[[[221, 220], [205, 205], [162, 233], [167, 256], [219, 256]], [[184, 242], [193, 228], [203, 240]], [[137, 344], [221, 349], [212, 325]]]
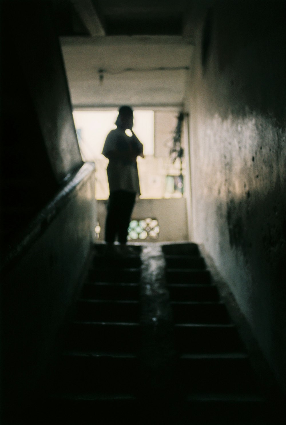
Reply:
[[5, 223], [0, 242], [5, 255], [11, 240], [82, 160], [51, 2], [1, 1], [0, 33], [0, 220]]

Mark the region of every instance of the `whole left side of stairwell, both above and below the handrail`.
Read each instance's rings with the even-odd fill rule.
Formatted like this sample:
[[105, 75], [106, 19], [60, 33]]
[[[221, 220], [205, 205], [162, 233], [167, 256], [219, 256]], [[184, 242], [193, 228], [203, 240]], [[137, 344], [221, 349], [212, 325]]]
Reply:
[[[12, 423], [52, 360], [96, 212], [94, 164], [80, 156], [52, 2], [3, 0], [0, 20], [0, 421]], [[69, 193], [81, 167], [89, 176]], [[68, 198], [60, 207], [59, 193]]]

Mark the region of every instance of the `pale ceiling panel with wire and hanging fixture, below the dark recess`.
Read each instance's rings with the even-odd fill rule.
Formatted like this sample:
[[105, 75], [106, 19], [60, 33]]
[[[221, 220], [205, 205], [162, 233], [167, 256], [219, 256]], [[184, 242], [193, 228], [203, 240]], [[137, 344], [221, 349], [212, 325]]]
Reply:
[[64, 38], [62, 50], [74, 107], [184, 102], [192, 45], [182, 37]]

